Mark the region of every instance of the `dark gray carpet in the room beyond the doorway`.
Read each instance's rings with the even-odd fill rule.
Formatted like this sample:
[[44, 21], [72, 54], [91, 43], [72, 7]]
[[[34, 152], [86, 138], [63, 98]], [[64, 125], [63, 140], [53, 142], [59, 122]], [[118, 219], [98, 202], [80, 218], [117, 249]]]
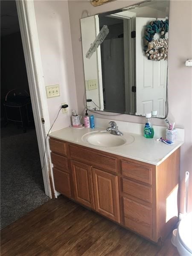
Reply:
[[1, 129], [1, 229], [49, 200], [35, 129], [22, 133], [13, 127], [12, 136], [6, 129]]

